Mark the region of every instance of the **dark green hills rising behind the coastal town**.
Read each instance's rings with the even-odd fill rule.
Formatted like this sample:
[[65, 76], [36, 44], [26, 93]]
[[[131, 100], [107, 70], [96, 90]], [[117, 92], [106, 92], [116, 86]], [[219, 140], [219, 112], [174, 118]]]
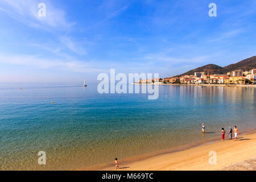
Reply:
[[254, 68], [256, 68], [256, 56], [242, 60], [236, 64], [230, 64], [226, 67], [220, 67], [216, 64], [207, 64], [207, 65], [204, 65], [203, 67], [192, 69], [191, 71], [185, 72], [175, 77], [181, 77], [184, 75], [194, 75], [195, 72], [205, 72], [206, 69], [220, 69], [220, 71], [210, 71], [209, 74], [213, 74], [213, 73], [226, 74], [227, 72], [231, 72], [237, 69], [242, 69], [242, 71], [249, 71], [250, 69], [254, 69]]

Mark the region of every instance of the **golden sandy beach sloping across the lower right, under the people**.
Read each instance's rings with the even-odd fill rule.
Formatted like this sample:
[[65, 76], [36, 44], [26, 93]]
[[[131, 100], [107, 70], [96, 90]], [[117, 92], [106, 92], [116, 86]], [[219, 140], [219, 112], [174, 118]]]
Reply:
[[[228, 137], [226, 134], [225, 137]], [[209, 164], [209, 152], [217, 154], [217, 164]], [[119, 160], [119, 170], [242, 170], [255, 169], [256, 157], [256, 133], [245, 134], [234, 139], [209, 144], [203, 144], [188, 150], [172, 152], [170, 154], [158, 155], [149, 159], [122, 165]], [[253, 167], [246, 168], [247, 164]], [[247, 165], [248, 166], [248, 165]], [[113, 167], [101, 170], [115, 170]]]

